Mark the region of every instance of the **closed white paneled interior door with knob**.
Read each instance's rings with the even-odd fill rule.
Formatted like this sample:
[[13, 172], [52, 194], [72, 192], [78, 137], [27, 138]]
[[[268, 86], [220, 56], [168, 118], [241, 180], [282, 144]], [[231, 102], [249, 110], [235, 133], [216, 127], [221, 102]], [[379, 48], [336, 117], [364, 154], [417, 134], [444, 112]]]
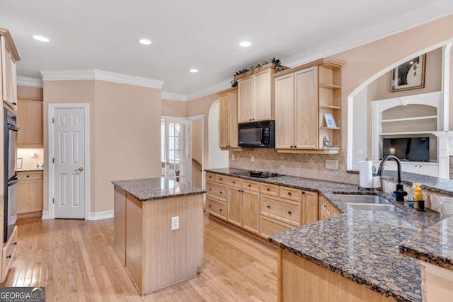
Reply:
[[54, 110], [55, 218], [85, 218], [85, 118], [84, 108]]

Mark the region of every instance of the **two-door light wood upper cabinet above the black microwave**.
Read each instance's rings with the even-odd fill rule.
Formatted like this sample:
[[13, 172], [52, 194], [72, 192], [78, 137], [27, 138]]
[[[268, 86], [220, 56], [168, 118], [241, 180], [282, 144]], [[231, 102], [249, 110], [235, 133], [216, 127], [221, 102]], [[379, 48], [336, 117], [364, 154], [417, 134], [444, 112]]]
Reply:
[[238, 122], [274, 120], [275, 64], [260, 66], [234, 79], [238, 81]]

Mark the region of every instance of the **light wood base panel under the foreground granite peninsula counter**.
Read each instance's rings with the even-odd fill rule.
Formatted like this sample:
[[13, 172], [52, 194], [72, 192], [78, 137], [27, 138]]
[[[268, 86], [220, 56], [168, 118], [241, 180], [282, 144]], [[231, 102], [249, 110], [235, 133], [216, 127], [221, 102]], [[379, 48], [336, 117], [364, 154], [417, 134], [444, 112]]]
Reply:
[[394, 302], [335, 272], [277, 248], [279, 302]]

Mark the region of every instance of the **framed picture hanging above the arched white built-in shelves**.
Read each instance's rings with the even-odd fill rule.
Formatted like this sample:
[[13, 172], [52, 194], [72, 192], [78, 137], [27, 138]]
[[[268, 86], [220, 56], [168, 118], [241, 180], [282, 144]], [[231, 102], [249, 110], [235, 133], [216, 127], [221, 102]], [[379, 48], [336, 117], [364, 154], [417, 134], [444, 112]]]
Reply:
[[426, 54], [415, 57], [391, 72], [391, 92], [425, 87]]

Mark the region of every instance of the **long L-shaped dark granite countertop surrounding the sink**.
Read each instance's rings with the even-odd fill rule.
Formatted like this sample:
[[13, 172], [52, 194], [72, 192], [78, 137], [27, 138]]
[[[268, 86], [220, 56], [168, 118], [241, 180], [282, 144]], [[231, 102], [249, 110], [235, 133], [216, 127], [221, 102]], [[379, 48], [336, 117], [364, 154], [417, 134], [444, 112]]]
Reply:
[[[361, 190], [358, 185], [289, 175], [251, 178], [247, 176], [248, 170], [234, 168], [207, 172], [323, 194], [343, 211], [342, 215], [275, 234], [270, 236], [270, 242], [384, 296], [394, 297], [396, 301], [422, 301], [420, 262], [401, 254], [399, 245], [413, 236], [420, 236], [422, 240], [425, 231], [437, 225], [439, 213], [429, 209], [417, 211], [407, 204], [394, 202], [390, 194]], [[404, 212], [357, 211], [340, 202], [334, 195], [337, 192], [378, 194]]]

